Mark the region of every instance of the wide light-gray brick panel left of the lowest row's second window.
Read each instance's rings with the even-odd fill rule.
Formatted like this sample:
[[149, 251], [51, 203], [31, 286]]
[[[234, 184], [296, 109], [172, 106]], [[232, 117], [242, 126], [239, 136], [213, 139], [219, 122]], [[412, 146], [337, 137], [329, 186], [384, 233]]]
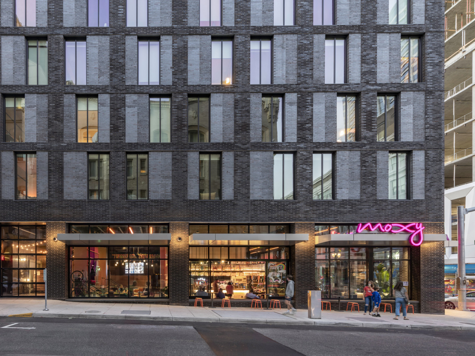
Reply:
[[68, 151], [63, 155], [65, 200], [87, 199], [87, 152]]

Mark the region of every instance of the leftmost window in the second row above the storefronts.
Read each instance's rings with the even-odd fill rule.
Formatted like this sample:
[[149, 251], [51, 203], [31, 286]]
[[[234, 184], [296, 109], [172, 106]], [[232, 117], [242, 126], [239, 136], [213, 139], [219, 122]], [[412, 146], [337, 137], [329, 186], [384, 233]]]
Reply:
[[5, 97], [5, 142], [25, 142], [24, 97]]

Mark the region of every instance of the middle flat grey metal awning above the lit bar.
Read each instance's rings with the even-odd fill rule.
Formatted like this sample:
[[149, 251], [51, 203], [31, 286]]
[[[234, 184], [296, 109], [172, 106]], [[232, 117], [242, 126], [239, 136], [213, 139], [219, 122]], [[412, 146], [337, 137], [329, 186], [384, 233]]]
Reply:
[[308, 234], [191, 234], [192, 245], [295, 245], [308, 241]]

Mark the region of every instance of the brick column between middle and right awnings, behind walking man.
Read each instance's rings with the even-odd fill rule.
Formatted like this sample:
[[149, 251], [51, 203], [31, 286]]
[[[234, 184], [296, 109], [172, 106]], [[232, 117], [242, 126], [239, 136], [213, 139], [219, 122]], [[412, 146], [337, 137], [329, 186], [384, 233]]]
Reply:
[[307, 242], [290, 249], [290, 274], [295, 281], [295, 308], [307, 309], [307, 290], [315, 290], [315, 228], [314, 223], [295, 223], [292, 234], [309, 234]]

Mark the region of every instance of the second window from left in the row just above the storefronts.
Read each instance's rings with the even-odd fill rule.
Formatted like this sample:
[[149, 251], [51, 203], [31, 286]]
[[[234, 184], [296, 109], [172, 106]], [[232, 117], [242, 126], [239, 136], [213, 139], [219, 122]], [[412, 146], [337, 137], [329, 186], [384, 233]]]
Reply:
[[109, 200], [109, 154], [89, 154], [88, 192], [90, 200]]

